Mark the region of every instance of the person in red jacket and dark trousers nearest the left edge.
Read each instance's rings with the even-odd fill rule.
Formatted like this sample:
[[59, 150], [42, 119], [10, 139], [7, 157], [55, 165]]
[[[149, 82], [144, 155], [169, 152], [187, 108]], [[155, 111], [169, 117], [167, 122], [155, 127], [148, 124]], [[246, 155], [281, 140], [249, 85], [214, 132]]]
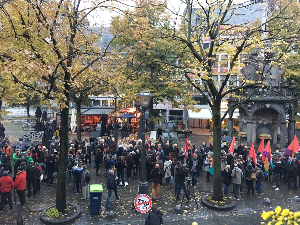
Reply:
[[3, 177], [0, 178], [0, 191], [1, 191], [1, 202], [0, 202], [0, 211], [4, 210], [4, 202], [6, 198], [8, 199], [8, 204], [10, 211], [13, 210], [13, 201], [11, 200], [11, 190], [15, 187], [13, 184], [13, 179], [8, 176], [8, 171], [5, 170]]

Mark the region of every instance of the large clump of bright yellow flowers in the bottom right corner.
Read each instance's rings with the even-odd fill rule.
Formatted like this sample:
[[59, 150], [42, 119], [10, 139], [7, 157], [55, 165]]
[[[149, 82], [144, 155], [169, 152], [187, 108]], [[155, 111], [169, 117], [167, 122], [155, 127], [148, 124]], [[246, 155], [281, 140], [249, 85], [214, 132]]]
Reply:
[[[271, 220], [268, 225], [300, 225], [300, 211], [290, 212], [289, 209], [281, 210], [280, 206], [277, 206], [274, 211], [263, 211], [261, 217], [264, 220]], [[261, 225], [267, 225], [265, 222], [261, 222]]]

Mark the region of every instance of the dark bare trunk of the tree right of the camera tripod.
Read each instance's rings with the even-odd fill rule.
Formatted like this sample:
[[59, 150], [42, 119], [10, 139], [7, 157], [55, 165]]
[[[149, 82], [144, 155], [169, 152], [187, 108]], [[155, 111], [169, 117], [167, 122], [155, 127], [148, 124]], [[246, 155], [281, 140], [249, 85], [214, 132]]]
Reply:
[[214, 201], [223, 201], [221, 176], [221, 99], [214, 100], [212, 107], [212, 122], [214, 132], [214, 162], [213, 162], [213, 196]]

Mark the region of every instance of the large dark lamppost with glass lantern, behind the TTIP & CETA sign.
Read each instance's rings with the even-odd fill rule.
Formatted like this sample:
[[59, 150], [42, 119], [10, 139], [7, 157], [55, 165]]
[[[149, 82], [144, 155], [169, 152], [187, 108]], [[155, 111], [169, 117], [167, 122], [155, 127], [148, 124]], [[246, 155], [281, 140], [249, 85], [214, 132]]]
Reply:
[[141, 113], [142, 113], [142, 126], [143, 126], [143, 133], [142, 133], [142, 151], [141, 151], [141, 176], [140, 176], [140, 183], [139, 183], [139, 194], [149, 194], [148, 190], [148, 181], [147, 181], [147, 172], [146, 172], [146, 134], [145, 134], [145, 114], [146, 110], [148, 109], [149, 106], [149, 101], [151, 98], [154, 96], [152, 95], [149, 91], [142, 91], [141, 93], [135, 95], [139, 97], [140, 99], [140, 106], [142, 108]]

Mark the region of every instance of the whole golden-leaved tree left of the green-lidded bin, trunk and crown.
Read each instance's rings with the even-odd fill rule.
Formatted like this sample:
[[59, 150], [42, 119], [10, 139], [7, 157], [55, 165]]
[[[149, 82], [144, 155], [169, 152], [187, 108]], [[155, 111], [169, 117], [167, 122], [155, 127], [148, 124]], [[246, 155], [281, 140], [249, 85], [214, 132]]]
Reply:
[[[97, 44], [101, 34], [88, 27], [87, 16], [96, 10], [111, 9], [108, 0], [82, 1], [7, 1], [0, 5], [1, 71], [15, 83], [38, 93], [46, 103], [55, 101], [61, 113], [61, 138], [56, 208], [66, 208], [65, 178], [68, 155], [70, 94], [85, 90], [90, 68], [106, 57]], [[90, 70], [90, 71], [89, 71]], [[97, 73], [93, 72], [93, 76]], [[29, 81], [41, 85], [35, 87]], [[76, 87], [76, 91], [74, 88]], [[73, 92], [74, 91], [74, 92]]]

